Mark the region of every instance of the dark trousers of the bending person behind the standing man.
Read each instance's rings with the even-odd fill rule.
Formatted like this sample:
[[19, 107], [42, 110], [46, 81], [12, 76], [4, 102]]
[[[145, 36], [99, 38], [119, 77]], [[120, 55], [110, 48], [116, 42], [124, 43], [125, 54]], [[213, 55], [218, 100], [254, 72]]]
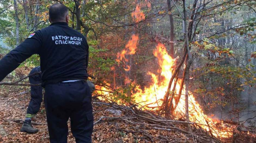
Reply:
[[[42, 74], [40, 67], [35, 67], [31, 70], [29, 75], [33, 74], [29, 77], [30, 84], [41, 84], [42, 83]], [[37, 74], [35, 74], [37, 73]], [[42, 102], [42, 86], [31, 86], [31, 100], [28, 105], [27, 113], [25, 117], [33, 118], [36, 113], [39, 112]]]

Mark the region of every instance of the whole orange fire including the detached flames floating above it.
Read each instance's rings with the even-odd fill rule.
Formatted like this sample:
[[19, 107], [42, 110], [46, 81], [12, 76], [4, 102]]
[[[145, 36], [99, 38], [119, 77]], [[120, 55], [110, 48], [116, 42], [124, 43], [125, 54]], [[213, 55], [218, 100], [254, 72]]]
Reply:
[[[136, 6], [134, 12], [132, 12], [132, 17], [135, 22], [139, 22], [145, 19], [145, 15], [141, 12], [140, 6]], [[124, 70], [127, 72], [130, 70], [130, 66], [126, 65], [126, 62], [129, 60], [126, 58], [126, 55], [133, 55], [136, 53], [137, 44], [139, 41], [138, 34], [133, 34], [132, 39], [128, 41], [124, 50], [121, 53], [117, 53], [116, 61], [120, 64], [121, 61], [124, 63]], [[147, 72], [151, 76], [151, 84], [141, 88], [139, 85], [136, 85], [134, 91], [132, 92], [132, 97], [136, 103], [139, 103], [142, 109], [146, 110], [159, 110], [163, 104], [164, 95], [166, 94], [169, 80], [172, 77], [173, 67], [175, 65], [175, 60], [167, 52], [164, 44], [158, 43], [156, 49], [153, 51], [154, 56], [158, 59], [159, 70], [157, 74], [153, 72]], [[185, 66], [185, 65], [184, 65]], [[129, 81], [129, 82], [127, 82]], [[129, 79], [125, 79], [124, 82], [130, 83]], [[178, 94], [180, 87], [180, 82], [178, 80], [176, 85], [175, 94]], [[108, 84], [108, 83], [107, 83]], [[108, 84], [109, 85], [109, 84]], [[173, 85], [171, 89], [173, 88]], [[97, 93], [108, 97], [111, 94], [111, 90], [97, 86], [96, 89], [100, 89]], [[189, 92], [190, 93], [190, 92]], [[177, 105], [173, 102], [173, 106], [176, 106], [174, 115], [180, 116], [185, 114], [185, 88], [182, 88], [182, 95]], [[219, 120], [209, 118], [203, 113], [199, 103], [195, 100], [192, 94], [189, 95], [189, 119], [191, 122], [197, 123], [201, 128], [210, 132], [212, 135], [218, 138], [228, 138], [232, 135], [232, 127], [225, 127], [224, 123]], [[224, 129], [226, 131], [224, 131]]]

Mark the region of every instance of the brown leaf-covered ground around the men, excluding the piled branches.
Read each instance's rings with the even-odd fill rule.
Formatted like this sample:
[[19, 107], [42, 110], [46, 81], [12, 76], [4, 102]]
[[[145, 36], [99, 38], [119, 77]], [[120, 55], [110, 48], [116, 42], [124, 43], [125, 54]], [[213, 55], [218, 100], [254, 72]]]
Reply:
[[[24, 132], [20, 132], [20, 128], [22, 126], [22, 120], [25, 118], [26, 109], [28, 107], [28, 103], [30, 100], [30, 91], [27, 90], [20, 90], [13, 91], [13, 89], [6, 89], [3, 90], [1, 88], [0, 92], [0, 142], [12, 142], [12, 143], [45, 143], [49, 142], [48, 130], [47, 130], [47, 122], [46, 122], [46, 114], [44, 103], [41, 104], [41, 109], [39, 113], [36, 115], [35, 119], [32, 121], [37, 124], [42, 125], [35, 125], [35, 128], [39, 129], [38, 133], [35, 134], [28, 134]], [[95, 100], [95, 99], [93, 99]], [[106, 105], [96, 105], [93, 104], [93, 113], [94, 113], [94, 120], [97, 121], [102, 116], [116, 116], [112, 113], [105, 111], [108, 109]], [[123, 114], [123, 113], [122, 113]], [[105, 121], [105, 120], [104, 120]], [[70, 129], [70, 121], [68, 121], [69, 129]], [[156, 129], [146, 130], [147, 132], [136, 132], [136, 126], [127, 125], [125, 122], [112, 120], [108, 122], [98, 122], [94, 125], [94, 132], [92, 134], [93, 143], [98, 142], [116, 142], [116, 143], [123, 143], [123, 142], [155, 142], [152, 137], [158, 135], [159, 132]], [[145, 128], [145, 127], [142, 127]], [[125, 131], [135, 131], [125, 132]], [[143, 135], [145, 134], [145, 135]], [[148, 137], [147, 137], [147, 134]], [[190, 142], [184, 134], [179, 132], [166, 132], [166, 135], [173, 136], [174, 142]], [[163, 134], [163, 136], [166, 136]], [[152, 141], [151, 141], [152, 140]], [[68, 142], [75, 143], [75, 139], [72, 136], [72, 133], [69, 132], [68, 134]]]

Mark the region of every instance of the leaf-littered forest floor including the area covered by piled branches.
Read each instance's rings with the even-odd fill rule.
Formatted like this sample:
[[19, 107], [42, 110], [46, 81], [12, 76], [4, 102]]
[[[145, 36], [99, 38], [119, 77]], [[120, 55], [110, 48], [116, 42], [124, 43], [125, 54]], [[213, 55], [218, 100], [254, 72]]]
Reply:
[[[37, 114], [36, 118], [33, 119], [33, 122], [36, 123], [33, 124], [33, 126], [35, 128], [38, 128], [39, 132], [35, 134], [20, 132], [20, 128], [26, 114], [29, 100], [30, 91], [28, 90], [28, 87], [1, 87], [0, 143], [49, 142], [44, 103], [42, 103], [40, 112]], [[153, 121], [149, 121], [150, 118], [148, 120], [143, 120], [139, 117], [132, 115], [129, 111], [130, 108], [127, 108], [128, 110], [125, 111], [125, 106], [124, 108], [120, 106], [120, 111], [122, 110], [121, 115], [115, 115], [111, 112], [106, 111], [106, 109], [112, 108], [111, 106], [107, 105], [108, 103], [104, 103], [96, 98], [93, 99], [93, 103], [94, 122], [96, 122], [92, 134], [93, 143], [200, 142], [198, 136], [193, 137], [193, 135], [191, 136], [190, 134], [182, 132], [186, 129], [186, 126], [184, 124], [175, 124], [176, 127], [181, 129], [180, 131], [179, 129], [164, 130], [163, 128], [159, 128], [161, 127], [159, 123], [153, 124]], [[140, 114], [139, 116], [142, 117], [144, 115]], [[68, 125], [70, 129], [70, 121], [68, 121]], [[214, 139], [206, 139], [209, 139], [209, 142], [215, 142]], [[232, 142], [232, 139], [229, 140], [230, 141], [227, 142]], [[245, 140], [243, 139], [243, 141]], [[249, 139], [247, 141], [255, 142], [256, 140]], [[75, 143], [75, 139], [70, 131], [68, 134], [68, 142]]]

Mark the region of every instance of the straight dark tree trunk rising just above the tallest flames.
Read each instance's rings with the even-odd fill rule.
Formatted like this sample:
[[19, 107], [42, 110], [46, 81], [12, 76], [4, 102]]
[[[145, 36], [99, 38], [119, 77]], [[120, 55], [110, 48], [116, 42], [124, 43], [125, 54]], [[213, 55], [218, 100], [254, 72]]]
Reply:
[[173, 25], [173, 17], [171, 15], [171, 2], [167, 0], [169, 19], [170, 19], [170, 56], [174, 58], [174, 25]]

